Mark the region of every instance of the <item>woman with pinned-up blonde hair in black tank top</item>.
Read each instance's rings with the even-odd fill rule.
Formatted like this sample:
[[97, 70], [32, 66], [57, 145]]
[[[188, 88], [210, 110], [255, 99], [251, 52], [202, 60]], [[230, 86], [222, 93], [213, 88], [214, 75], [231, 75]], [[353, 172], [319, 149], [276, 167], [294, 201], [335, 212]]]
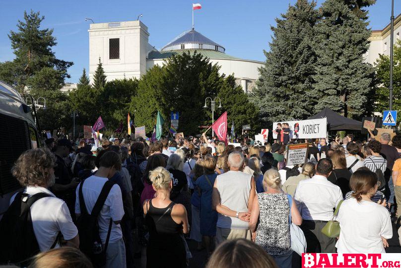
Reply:
[[187, 211], [170, 199], [173, 181], [162, 167], [149, 172], [156, 191], [155, 198], [143, 204], [145, 221], [149, 228], [146, 247], [146, 267], [186, 267], [186, 250], [181, 234], [189, 232]]

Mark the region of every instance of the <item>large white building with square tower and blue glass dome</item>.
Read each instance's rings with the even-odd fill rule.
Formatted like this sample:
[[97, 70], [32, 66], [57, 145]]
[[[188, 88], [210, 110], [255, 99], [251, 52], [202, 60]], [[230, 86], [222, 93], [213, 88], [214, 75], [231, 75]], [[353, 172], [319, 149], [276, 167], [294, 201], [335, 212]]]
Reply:
[[139, 79], [146, 70], [174, 54], [197, 51], [208, 57], [212, 64], [221, 66], [220, 73], [234, 74], [237, 84], [244, 91], [251, 90], [259, 78], [258, 68], [263, 62], [239, 59], [225, 54], [225, 48], [194, 29], [185, 31], [160, 51], [148, 42], [149, 32], [141, 21], [122, 21], [90, 24], [89, 32], [89, 79], [97, 65], [102, 62], [107, 80], [135, 77]]

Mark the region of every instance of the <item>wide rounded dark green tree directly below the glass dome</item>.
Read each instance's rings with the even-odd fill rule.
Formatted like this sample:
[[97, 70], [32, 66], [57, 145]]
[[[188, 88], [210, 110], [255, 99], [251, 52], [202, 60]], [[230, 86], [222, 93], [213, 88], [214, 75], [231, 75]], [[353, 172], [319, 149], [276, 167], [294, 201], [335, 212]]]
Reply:
[[135, 125], [145, 125], [150, 131], [157, 111], [166, 125], [170, 112], [178, 111], [179, 131], [185, 135], [199, 133], [200, 125], [211, 123], [210, 111], [202, 108], [204, 99], [215, 97], [224, 82], [219, 68], [195, 51], [173, 55], [163, 67], [149, 69], [139, 81], [131, 104], [131, 110], [136, 110]]

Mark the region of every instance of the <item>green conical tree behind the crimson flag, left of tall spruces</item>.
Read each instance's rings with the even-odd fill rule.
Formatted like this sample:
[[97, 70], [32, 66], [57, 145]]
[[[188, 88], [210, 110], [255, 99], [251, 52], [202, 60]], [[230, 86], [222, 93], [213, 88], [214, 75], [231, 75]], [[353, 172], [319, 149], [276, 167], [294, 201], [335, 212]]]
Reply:
[[[217, 96], [221, 99], [223, 110], [227, 110], [227, 124], [229, 128], [232, 123], [234, 123], [236, 130], [242, 129], [242, 126], [247, 124], [250, 124], [252, 129], [259, 127], [259, 111], [250, 102], [242, 87], [235, 85], [234, 76], [230, 75], [224, 79], [224, 83]], [[219, 112], [220, 115], [222, 113], [223, 111]], [[229, 132], [230, 130], [228, 130]]]

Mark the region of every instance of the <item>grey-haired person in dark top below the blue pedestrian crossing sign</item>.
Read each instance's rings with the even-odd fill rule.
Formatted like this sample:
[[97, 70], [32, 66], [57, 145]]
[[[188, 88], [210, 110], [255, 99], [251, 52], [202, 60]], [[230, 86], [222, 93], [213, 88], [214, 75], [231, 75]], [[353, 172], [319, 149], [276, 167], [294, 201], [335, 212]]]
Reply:
[[394, 183], [391, 178], [391, 173], [393, 170], [394, 162], [400, 158], [396, 147], [389, 145], [391, 141], [391, 136], [389, 133], [382, 133], [379, 138], [380, 143], [382, 144], [382, 150], [380, 154], [387, 160], [387, 169], [384, 173], [384, 178], [386, 179], [388, 185], [386, 185], [386, 190], [384, 194], [386, 195], [387, 200], [389, 200], [389, 205], [394, 204]]

